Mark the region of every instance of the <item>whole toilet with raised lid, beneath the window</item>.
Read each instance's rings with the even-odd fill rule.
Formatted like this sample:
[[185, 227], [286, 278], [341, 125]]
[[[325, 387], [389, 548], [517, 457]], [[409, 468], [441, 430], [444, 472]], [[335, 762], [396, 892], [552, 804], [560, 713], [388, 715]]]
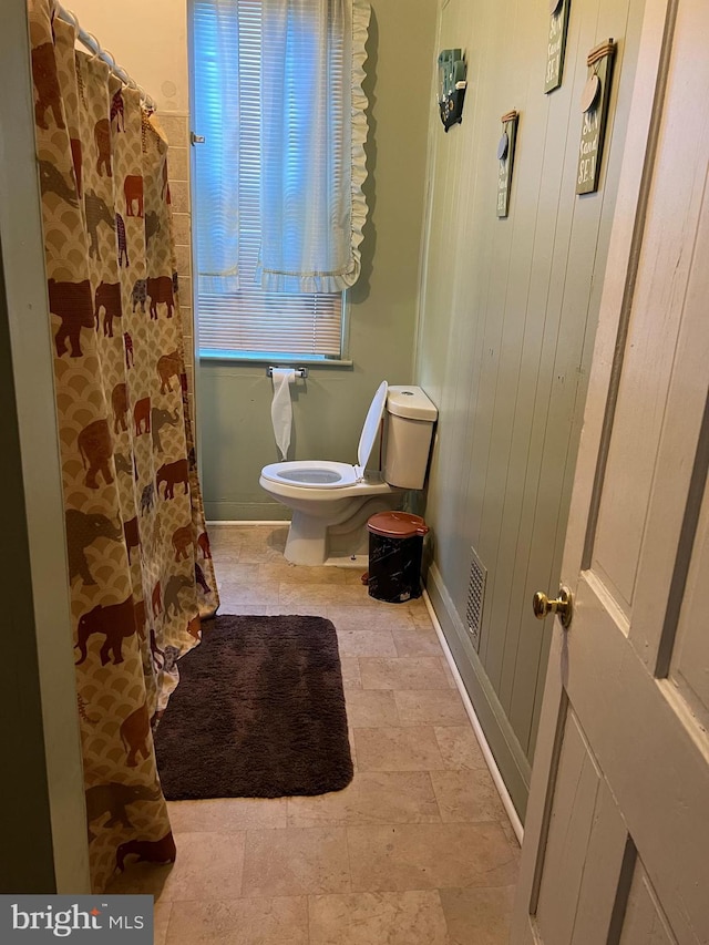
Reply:
[[[384, 417], [383, 479], [366, 473]], [[422, 489], [438, 418], [420, 387], [377, 389], [357, 451], [357, 464], [327, 460], [271, 463], [259, 484], [292, 510], [285, 555], [294, 564], [361, 564], [367, 521], [395, 507], [404, 490]]]

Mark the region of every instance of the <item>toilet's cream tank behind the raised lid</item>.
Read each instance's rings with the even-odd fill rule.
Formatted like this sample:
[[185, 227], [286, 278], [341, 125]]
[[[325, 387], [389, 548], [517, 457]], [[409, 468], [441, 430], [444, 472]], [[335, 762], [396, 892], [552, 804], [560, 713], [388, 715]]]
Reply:
[[390, 386], [384, 449], [384, 479], [390, 485], [423, 489], [438, 415], [420, 387]]

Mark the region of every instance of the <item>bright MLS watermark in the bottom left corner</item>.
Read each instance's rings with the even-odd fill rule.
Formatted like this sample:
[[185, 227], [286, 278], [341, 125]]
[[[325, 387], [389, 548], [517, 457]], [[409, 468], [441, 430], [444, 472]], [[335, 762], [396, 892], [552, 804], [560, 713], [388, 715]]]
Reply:
[[0, 895], [0, 943], [153, 945], [152, 896]]

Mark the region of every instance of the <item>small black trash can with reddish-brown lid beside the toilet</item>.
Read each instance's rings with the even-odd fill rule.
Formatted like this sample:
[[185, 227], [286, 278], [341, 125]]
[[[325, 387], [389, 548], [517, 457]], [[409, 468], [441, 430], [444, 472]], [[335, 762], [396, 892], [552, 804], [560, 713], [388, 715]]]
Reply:
[[403, 604], [421, 596], [421, 553], [429, 531], [420, 515], [379, 512], [369, 531], [369, 596]]

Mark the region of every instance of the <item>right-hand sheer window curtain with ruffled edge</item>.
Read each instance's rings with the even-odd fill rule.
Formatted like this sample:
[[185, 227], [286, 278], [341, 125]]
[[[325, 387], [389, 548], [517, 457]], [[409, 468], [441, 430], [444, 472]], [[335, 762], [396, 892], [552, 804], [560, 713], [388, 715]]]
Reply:
[[367, 218], [370, 8], [263, 0], [261, 288], [339, 292], [360, 274]]

